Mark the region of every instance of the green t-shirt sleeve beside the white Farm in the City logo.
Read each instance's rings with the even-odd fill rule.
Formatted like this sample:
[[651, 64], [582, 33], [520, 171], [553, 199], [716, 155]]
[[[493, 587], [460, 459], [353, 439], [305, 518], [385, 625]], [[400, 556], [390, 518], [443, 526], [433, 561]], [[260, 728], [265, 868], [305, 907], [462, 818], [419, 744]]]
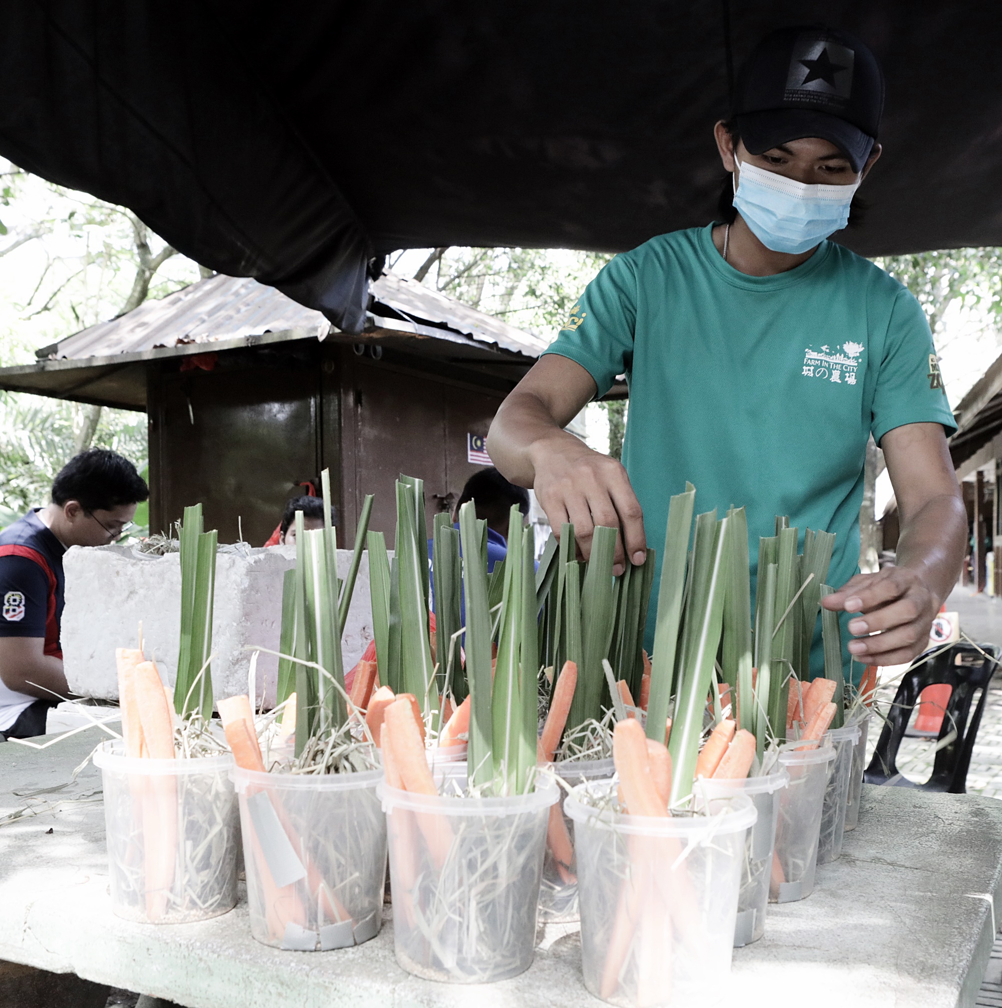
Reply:
[[905, 423], [942, 423], [957, 429], [943, 387], [932, 334], [918, 301], [900, 290], [891, 308], [873, 396], [873, 439]]

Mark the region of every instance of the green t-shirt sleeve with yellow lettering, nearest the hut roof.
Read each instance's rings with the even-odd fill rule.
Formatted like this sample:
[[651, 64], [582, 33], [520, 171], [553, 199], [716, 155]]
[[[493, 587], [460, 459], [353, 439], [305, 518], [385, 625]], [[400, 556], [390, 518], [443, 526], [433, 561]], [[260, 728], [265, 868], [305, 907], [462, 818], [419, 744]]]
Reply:
[[585, 288], [545, 353], [580, 364], [595, 379], [597, 395], [603, 396], [616, 376], [630, 369], [636, 321], [636, 276], [629, 258], [618, 255]]

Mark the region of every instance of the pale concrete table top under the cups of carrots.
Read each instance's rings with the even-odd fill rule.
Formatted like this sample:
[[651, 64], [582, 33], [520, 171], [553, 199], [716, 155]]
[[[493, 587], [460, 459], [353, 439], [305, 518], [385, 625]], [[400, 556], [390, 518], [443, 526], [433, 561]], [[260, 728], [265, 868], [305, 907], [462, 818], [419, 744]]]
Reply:
[[[88, 765], [68, 783], [97, 741], [87, 731], [43, 752], [0, 745], [0, 959], [190, 1008], [602, 1003], [582, 983], [578, 935], [552, 926], [527, 973], [470, 988], [404, 973], [389, 912], [377, 938], [329, 953], [259, 944], [243, 898], [197, 924], [115, 917], [100, 772]], [[765, 937], [735, 951], [733, 990], [756, 1006], [973, 1005], [1000, 897], [1002, 801], [864, 786], [842, 859], [819, 867], [809, 898], [769, 907]]]

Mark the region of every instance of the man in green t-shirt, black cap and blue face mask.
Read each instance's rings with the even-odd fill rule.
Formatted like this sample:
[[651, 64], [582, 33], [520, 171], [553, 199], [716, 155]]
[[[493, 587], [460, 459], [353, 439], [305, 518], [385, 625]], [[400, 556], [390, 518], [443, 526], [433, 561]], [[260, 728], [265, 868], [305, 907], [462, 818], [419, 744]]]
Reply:
[[[697, 510], [747, 507], [752, 557], [776, 514], [801, 535], [836, 532], [829, 581], [842, 587], [825, 605], [855, 638], [847, 664], [849, 653], [908, 661], [956, 582], [967, 517], [921, 307], [827, 240], [880, 156], [880, 69], [845, 32], [784, 28], [749, 57], [734, 104], [715, 127], [724, 223], [660, 235], [605, 266], [498, 411], [491, 458], [534, 487], [553, 528], [574, 522], [586, 555], [594, 525], [618, 527], [617, 573], [647, 542], [660, 552], [668, 498], [686, 480]], [[623, 373], [621, 466], [562, 427]], [[896, 566], [860, 575], [871, 433], [901, 534]], [[650, 619], [648, 648], [652, 638]], [[819, 659], [816, 648], [816, 671]]]

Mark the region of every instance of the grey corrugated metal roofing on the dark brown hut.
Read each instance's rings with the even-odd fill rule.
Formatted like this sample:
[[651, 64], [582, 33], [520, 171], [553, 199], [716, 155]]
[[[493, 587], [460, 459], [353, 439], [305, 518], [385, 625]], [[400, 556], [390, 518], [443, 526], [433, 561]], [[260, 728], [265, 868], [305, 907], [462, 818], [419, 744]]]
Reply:
[[[394, 273], [375, 280], [370, 292], [373, 327], [432, 337], [439, 331], [451, 342], [459, 335], [532, 358], [546, 348], [546, 341], [537, 336]], [[320, 311], [303, 307], [274, 287], [249, 277], [217, 275], [85, 329], [39, 354], [48, 360], [109, 357], [285, 331], [290, 337], [294, 333], [298, 338], [323, 339], [333, 330]]]

